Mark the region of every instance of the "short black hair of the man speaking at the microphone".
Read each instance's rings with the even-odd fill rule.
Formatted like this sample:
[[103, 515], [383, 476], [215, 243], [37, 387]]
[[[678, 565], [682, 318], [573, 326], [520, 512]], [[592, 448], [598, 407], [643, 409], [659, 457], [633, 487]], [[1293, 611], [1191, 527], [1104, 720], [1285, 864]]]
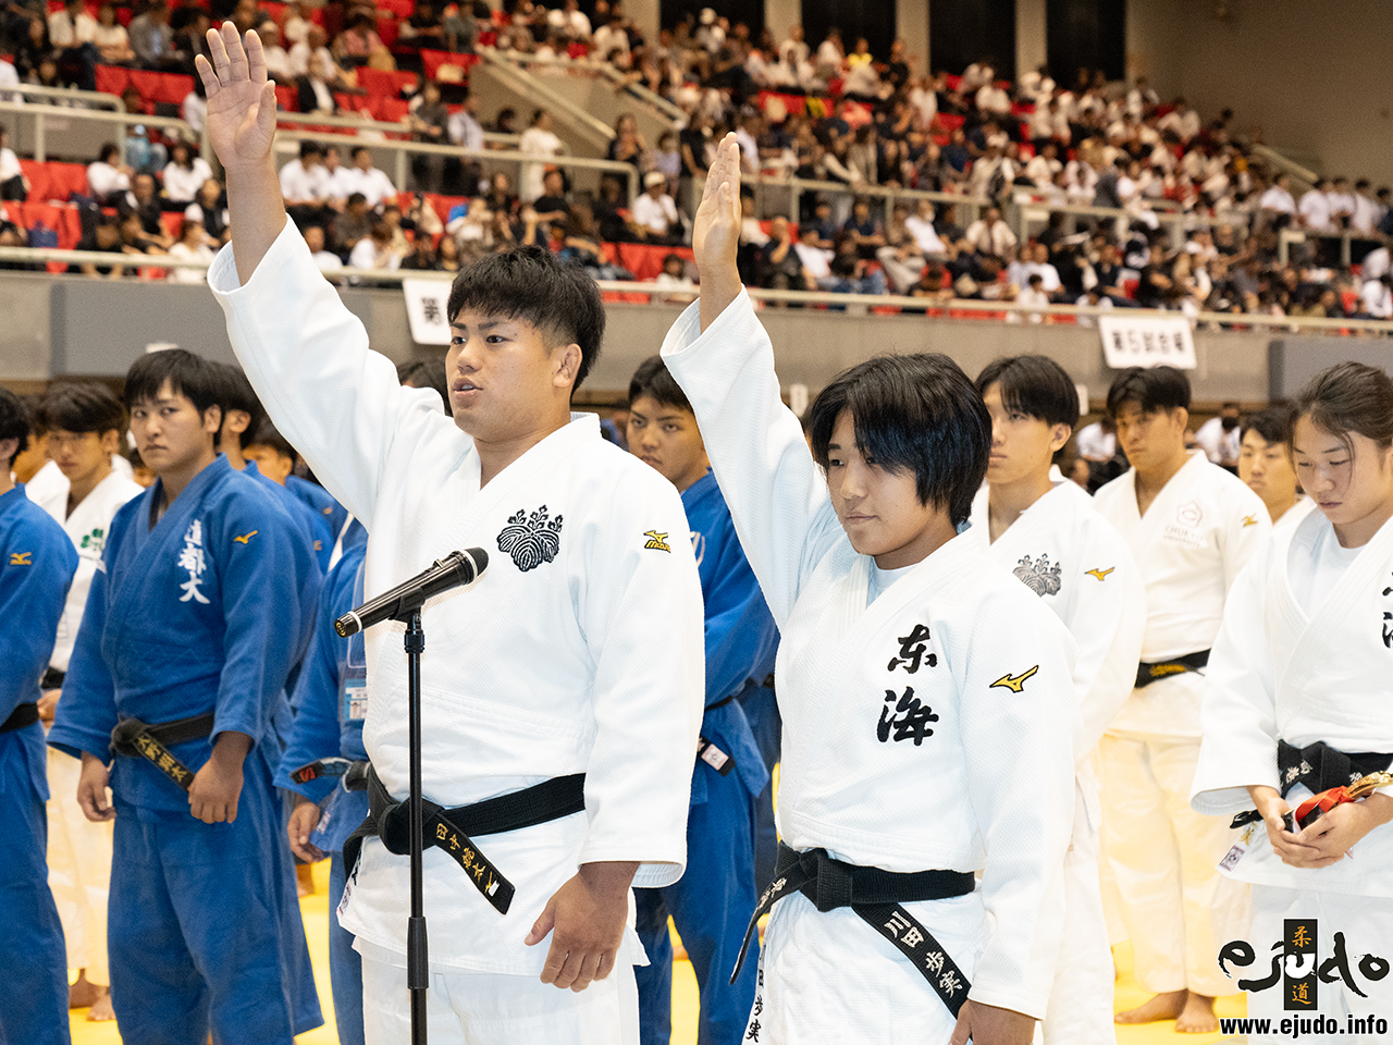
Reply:
[[595, 280], [575, 263], [561, 263], [542, 247], [490, 254], [467, 266], [450, 287], [446, 316], [453, 323], [464, 309], [507, 316], [542, 332], [547, 347], [575, 343], [581, 366], [575, 385], [591, 372], [605, 339], [605, 304]]

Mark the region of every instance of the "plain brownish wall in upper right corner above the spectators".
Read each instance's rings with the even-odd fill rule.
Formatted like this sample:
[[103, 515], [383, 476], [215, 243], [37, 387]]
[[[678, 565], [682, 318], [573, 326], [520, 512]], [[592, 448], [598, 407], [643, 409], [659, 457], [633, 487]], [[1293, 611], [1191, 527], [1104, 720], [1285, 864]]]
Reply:
[[1393, 184], [1393, 43], [1387, 0], [1128, 0], [1127, 67], [1204, 118], [1234, 110], [1321, 173]]

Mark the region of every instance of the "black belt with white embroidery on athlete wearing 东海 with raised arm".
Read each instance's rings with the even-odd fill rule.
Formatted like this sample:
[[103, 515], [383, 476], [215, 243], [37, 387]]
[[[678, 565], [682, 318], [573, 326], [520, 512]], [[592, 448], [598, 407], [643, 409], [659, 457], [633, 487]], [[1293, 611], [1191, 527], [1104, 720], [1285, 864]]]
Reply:
[[871, 928], [893, 943], [901, 954], [910, 959], [929, 986], [947, 1006], [953, 1016], [958, 1014], [967, 992], [972, 986], [963, 970], [957, 967], [918, 918], [910, 914], [904, 904], [917, 900], [946, 900], [953, 896], [967, 896], [976, 888], [971, 871], [915, 871], [896, 874], [878, 867], [857, 867], [833, 860], [825, 849], [809, 849], [800, 853], [779, 843], [779, 861], [773, 883], [759, 897], [755, 914], [745, 929], [745, 942], [736, 959], [736, 971], [730, 977], [734, 984], [740, 967], [745, 961], [749, 939], [755, 934], [759, 918], [783, 897], [798, 892], [812, 900], [819, 911], [850, 907]]

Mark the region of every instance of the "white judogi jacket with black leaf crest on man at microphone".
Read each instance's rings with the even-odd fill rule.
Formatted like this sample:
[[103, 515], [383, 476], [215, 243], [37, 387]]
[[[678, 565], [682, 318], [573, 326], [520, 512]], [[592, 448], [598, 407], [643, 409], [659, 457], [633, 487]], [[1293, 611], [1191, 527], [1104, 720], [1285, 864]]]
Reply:
[[[481, 840], [517, 888], [507, 915], [428, 849], [425, 910], [435, 966], [536, 975], [549, 942], [522, 939], [579, 864], [639, 861], [635, 886], [683, 872], [703, 647], [677, 490], [581, 414], [481, 489], [471, 439], [437, 394], [403, 389], [393, 364], [368, 350], [288, 222], [247, 287], [231, 249], [209, 284], [277, 428], [372, 534], [368, 598], [453, 549], [489, 555], [472, 591], [425, 607], [425, 797], [464, 805], [585, 772], [586, 810]], [[364, 727], [398, 800], [408, 784], [401, 633], [368, 633]], [[371, 839], [341, 922], [404, 954], [408, 895], [407, 858]]]

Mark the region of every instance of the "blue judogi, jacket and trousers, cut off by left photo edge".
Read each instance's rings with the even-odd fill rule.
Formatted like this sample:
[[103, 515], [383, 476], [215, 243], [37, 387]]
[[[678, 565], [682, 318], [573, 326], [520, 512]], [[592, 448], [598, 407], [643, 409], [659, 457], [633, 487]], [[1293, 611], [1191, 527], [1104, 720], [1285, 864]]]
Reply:
[[[8, 467], [8, 465], [6, 465]], [[78, 553], [63, 527], [15, 486], [0, 496], [0, 723], [39, 699]], [[43, 726], [0, 733], [0, 1045], [68, 1037], [68, 970], [49, 892]]]

